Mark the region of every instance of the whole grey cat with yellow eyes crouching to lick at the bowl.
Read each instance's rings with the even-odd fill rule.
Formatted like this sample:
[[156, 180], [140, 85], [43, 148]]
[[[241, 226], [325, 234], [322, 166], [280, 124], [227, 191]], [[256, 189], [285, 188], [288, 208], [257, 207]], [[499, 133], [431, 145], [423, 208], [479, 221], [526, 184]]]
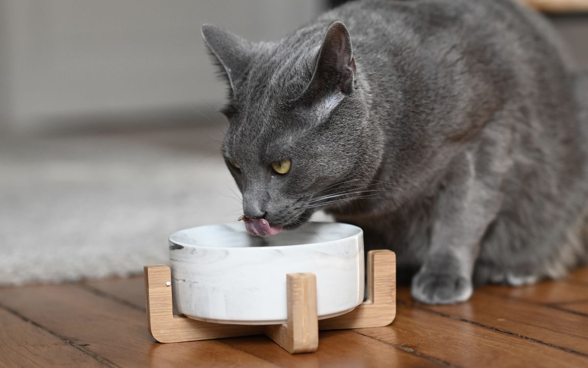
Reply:
[[358, 1], [278, 42], [212, 25], [248, 229], [318, 208], [397, 254], [425, 303], [588, 258], [588, 78], [511, 0]]

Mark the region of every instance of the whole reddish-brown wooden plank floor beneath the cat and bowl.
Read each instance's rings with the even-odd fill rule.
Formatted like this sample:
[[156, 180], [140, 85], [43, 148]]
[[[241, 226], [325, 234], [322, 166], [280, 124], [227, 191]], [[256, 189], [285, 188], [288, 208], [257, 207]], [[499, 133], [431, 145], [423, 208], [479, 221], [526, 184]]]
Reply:
[[588, 268], [454, 306], [400, 288], [390, 326], [323, 331], [298, 356], [263, 336], [156, 343], [144, 292], [142, 277], [0, 289], [0, 366], [588, 367]]

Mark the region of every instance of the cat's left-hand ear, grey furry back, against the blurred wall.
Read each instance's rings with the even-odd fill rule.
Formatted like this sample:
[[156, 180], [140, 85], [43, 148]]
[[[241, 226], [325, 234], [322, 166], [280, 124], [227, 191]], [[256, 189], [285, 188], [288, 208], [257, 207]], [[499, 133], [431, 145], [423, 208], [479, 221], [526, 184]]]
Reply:
[[251, 58], [252, 43], [212, 24], [202, 26], [202, 38], [234, 93], [239, 82], [245, 77]]

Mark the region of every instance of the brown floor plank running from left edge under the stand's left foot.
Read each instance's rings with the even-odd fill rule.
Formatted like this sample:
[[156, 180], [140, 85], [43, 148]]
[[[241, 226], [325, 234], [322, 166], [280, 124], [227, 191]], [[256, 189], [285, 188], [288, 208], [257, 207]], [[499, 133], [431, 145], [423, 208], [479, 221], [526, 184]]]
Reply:
[[118, 366], [275, 367], [215, 340], [155, 343], [143, 311], [75, 284], [0, 289], [0, 304]]

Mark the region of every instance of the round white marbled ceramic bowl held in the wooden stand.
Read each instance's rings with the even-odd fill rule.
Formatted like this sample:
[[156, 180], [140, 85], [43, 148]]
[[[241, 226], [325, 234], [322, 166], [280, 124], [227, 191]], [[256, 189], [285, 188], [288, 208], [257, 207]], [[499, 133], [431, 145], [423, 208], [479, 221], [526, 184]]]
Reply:
[[193, 227], [169, 238], [173, 304], [193, 319], [217, 323], [286, 323], [286, 274], [316, 275], [319, 319], [363, 301], [363, 231], [309, 223], [253, 237], [243, 223]]

